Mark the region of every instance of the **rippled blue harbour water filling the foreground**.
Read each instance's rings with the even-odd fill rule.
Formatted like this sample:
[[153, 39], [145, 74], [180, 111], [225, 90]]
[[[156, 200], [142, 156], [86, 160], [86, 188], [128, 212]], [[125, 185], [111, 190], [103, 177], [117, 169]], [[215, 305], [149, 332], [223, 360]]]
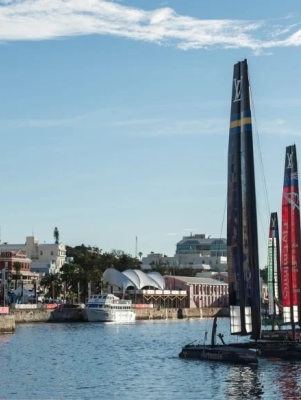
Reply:
[[[0, 399], [300, 399], [301, 363], [182, 360], [212, 320], [26, 324], [0, 336]], [[218, 332], [229, 331], [221, 319]], [[231, 340], [235, 340], [231, 338]]]

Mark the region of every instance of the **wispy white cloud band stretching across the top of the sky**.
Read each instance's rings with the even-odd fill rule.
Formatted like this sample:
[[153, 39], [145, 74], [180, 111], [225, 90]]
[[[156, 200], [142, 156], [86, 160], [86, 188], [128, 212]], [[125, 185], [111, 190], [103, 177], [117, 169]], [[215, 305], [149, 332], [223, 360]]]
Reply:
[[0, 41], [47, 40], [74, 35], [113, 35], [180, 49], [300, 46], [297, 24], [201, 20], [172, 8], [153, 11], [108, 0], [0, 0]]

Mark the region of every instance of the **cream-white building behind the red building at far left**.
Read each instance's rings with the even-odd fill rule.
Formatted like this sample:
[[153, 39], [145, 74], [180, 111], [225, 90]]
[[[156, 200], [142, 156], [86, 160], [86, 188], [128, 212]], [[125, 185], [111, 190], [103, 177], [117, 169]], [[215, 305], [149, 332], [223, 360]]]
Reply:
[[41, 244], [35, 236], [27, 236], [25, 244], [0, 243], [0, 252], [20, 249], [32, 260], [32, 272], [56, 273], [65, 263], [66, 247], [62, 243]]

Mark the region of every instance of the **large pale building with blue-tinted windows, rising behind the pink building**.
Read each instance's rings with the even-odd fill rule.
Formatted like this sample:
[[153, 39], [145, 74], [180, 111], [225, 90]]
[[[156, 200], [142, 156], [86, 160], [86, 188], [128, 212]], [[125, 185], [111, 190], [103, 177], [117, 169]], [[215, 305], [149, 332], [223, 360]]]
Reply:
[[142, 269], [151, 269], [156, 265], [166, 265], [171, 273], [176, 268], [227, 271], [226, 239], [211, 238], [207, 234], [184, 236], [176, 244], [176, 253], [173, 257], [150, 253], [142, 258]]

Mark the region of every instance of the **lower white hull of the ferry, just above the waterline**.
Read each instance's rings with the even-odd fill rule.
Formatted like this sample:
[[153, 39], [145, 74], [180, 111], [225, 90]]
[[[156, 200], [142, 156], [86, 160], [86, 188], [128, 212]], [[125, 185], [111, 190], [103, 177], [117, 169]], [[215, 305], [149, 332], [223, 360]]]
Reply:
[[136, 314], [131, 310], [83, 309], [84, 319], [88, 322], [134, 322]]

